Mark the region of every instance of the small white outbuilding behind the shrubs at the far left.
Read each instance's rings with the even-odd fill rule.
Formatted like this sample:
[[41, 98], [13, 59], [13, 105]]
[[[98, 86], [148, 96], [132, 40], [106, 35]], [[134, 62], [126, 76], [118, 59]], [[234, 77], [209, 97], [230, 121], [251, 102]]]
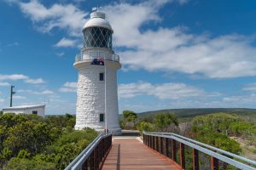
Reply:
[[38, 116], [44, 116], [45, 105], [19, 105], [7, 107], [3, 109], [3, 114], [5, 113], [34, 114]]

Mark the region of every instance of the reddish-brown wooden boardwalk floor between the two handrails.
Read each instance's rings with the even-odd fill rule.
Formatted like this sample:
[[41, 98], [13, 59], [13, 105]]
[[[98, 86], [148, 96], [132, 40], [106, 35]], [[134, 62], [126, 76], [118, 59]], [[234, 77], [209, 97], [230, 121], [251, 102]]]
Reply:
[[108, 169], [181, 169], [177, 164], [149, 149], [136, 138], [113, 139], [113, 146], [102, 167]]

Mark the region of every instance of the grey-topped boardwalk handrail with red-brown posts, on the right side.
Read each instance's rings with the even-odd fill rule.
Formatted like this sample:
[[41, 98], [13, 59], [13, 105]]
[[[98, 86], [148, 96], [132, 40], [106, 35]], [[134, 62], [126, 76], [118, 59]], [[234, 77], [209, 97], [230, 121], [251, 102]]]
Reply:
[[[162, 141], [165, 139], [165, 142]], [[250, 165], [256, 166], [256, 161], [249, 160], [242, 156], [237, 156], [228, 151], [220, 150], [208, 144], [203, 144], [201, 142], [195, 141], [193, 139], [188, 139], [181, 135], [175, 133], [147, 133], [143, 132], [143, 143], [148, 145], [148, 147], [159, 151], [161, 154], [168, 156], [169, 154], [169, 140], [172, 139], [172, 160], [177, 161], [177, 153], [176, 153], [176, 142], [180, 143], [180, 166], [185, 168], [185, 154], [184, 154], [184, 145], [189, 146], [193, 149], [193, 167], [194, 169], [199, 169], [199, 160], [198, 160], [198, 151], [211, 156], [211, 166], [212, 169], [218, 169], [218, 161], [224, 161], [225, 163], [232, 165], [234, 167], [238, 167], [240, 169], [246, 170], [255, 170], [256, 168], [251, 167], [247, 164], [244, 164], [240, 161], [245, 161]], [[165, 151], [163, 149], [165, 145]], [[236, 161], [231, 159], [230, 157], [234, 157], [239, 159], [240, 161]]]

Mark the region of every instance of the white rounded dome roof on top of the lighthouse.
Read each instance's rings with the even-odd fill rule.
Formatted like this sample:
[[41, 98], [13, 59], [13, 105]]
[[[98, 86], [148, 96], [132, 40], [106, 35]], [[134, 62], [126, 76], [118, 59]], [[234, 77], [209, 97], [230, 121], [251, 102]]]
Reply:
[[83, 30], [90, 27], [103, 27], [113, 31], [108, 20], [106, 20], [106, 15], [100, 11], [90, 14], [90, 20], [85, 23]]

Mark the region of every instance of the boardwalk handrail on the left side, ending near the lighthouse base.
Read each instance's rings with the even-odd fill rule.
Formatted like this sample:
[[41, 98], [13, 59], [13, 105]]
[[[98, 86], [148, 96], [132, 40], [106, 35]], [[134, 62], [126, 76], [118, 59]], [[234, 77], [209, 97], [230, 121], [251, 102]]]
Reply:
[[96, 137], [80, 154], [77, 156], [65, 170], [80, 170], [92, 167], [98, 169], [102, 167], [102, 163], [112, 145], [112, 134], [102, 133]]

